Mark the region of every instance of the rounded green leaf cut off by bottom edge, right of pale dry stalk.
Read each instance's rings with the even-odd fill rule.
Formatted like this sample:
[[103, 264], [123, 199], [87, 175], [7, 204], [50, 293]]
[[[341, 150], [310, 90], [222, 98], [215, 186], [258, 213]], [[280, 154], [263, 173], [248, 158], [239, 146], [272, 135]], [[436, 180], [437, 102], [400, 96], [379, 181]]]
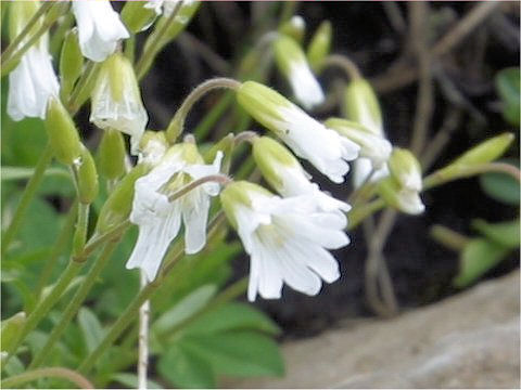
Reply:
[[209, 363], [180, 344], [170, 346], [160, 358], [157, 370], [178, 388], [215, 387], [215, 375]]

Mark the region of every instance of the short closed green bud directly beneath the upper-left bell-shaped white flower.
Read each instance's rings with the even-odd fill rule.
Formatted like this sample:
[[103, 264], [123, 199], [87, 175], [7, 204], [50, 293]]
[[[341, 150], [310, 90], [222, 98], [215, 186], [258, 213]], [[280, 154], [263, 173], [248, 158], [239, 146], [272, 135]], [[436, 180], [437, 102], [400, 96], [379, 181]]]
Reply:
[[98, 167], [100, 174], [109, 180], [116, 180], [125, 174], [125, 141], [119, 131], [106, 129], [103, 131], [98, 147]]

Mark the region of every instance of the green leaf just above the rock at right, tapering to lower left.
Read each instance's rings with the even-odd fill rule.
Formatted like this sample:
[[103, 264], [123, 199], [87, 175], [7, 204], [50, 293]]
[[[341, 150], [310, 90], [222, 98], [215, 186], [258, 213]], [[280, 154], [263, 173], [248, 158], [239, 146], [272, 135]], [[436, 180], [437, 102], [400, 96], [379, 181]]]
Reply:
[[459, 273], [454, 278], [456, 287], [466, 287], [498, 264], [509, 249], [484, 238], [469, 242], [460, 255]]

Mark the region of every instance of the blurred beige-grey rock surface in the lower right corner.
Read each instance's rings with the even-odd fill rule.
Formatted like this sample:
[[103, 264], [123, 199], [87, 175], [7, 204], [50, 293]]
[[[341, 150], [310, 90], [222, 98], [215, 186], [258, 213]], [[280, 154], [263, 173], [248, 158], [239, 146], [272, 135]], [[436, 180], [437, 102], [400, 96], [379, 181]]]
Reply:
[[283, 346], [287, 375], [237, 388], [519, 388], [519, 271], [386, 321]]

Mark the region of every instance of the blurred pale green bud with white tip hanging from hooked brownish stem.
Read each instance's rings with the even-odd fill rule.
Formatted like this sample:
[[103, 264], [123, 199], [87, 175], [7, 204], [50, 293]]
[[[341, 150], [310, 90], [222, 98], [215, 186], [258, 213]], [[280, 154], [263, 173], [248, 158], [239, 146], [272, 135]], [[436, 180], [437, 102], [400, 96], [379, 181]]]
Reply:
[[382, 113], [378, 98], [370, 83], [363, 79], [352, 80], [344, 92], [344, 115], [377, 135], [383, 135]]

